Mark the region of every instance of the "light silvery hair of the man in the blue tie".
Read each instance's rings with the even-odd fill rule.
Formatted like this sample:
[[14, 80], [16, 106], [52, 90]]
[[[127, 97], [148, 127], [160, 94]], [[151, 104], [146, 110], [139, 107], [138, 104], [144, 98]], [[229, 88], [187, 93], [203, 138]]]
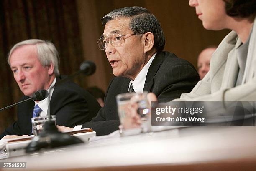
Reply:
[[10, 56], [13, 51], [23, 45], [36, 45], [38, 60], [41, 65], [49, 66], [51, 63], [54, 66], [55, 76], [59, 76], [59, 54], [53, 43], [39, 39], [29, 39], [19, 42], [13, 46], [7, 57], [7, 62], [10, 65]]

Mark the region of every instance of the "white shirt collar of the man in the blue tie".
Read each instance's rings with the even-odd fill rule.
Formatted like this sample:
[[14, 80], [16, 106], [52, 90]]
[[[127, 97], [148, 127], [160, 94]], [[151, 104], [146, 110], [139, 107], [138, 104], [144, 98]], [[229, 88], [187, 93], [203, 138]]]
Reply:
[[49, 103], [51, 100], [52, 93], [54, 91], [55, 83], [56, 83], [56, 77], [54, 78], [54, 81], [51, 83], [50, 87], [47, 89], [47, 91], [49, 93], [48, 97], [42, 101], [39, 101], [38, 103], [35, 101], [35, 106], [36, 106], [36, 104], [38, 104], [38, 106], [42, 109], [40, 116], [42, 116], [42, 115], [46, 116], [46, 114], [47, 114], [48, 106], [49, 106]]

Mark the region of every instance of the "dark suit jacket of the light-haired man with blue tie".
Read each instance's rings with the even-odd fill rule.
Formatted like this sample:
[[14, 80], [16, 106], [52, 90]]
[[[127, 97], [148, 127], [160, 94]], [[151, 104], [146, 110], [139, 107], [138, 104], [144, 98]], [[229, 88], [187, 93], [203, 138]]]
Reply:
[[[57, 79], [56, 83], [59, 83]], [[21, 100], [29, 98], [23, 96]], [[35, 102], [27, 101], [18, 106], [17, 121], [0, 135], [30, 135], [31, 118]], [[89, 122], [100, 110], [97, 100], [86, 90], [73, 82], [62, 83], [54, 88], [50, 101], [50, 114], [56, 115], [56, 124], [74, 127]]]

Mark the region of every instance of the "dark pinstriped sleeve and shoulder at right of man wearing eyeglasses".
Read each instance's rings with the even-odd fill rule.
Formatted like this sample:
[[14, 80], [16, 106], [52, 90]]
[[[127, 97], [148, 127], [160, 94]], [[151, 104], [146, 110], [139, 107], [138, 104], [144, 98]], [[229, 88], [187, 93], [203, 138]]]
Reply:
[[189, 93], [200, 80], [195, 67], [174, 53], [159, 53], [152, 64], [144, 90], [153, 92], [159, 102], [172, 101], [182, 93]]

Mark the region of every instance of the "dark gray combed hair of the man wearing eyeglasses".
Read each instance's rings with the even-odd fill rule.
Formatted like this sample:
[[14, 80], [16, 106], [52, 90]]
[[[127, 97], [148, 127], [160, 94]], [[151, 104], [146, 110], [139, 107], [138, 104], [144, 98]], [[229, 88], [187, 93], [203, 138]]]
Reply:
[[102, 24], [105, 27], [108, 21], [120, 17], [131, 17], [130, 28], [134, 33], [147, 33], [154, 34], [154, 48], [158, 52], [164, 49], [165, 38], [163, 30], [156, 17], [150, 13], [149, 10], [143, 7], [123, 7], [111, 11], [102, 18]]

